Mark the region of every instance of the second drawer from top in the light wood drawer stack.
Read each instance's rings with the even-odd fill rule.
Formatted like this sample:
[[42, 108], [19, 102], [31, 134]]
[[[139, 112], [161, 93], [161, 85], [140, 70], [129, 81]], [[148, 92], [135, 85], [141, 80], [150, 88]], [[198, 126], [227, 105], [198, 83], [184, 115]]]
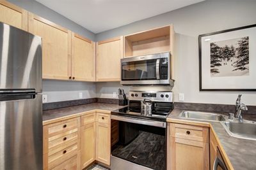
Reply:
[[60, 150], [67, 148], [70, 145], [74, 145], [78, 143], [78, 132], [74, 132], [72, 134], [65, 135], [61, 138], [49, 141], [49, 155], [53, 153], [59, 152]]

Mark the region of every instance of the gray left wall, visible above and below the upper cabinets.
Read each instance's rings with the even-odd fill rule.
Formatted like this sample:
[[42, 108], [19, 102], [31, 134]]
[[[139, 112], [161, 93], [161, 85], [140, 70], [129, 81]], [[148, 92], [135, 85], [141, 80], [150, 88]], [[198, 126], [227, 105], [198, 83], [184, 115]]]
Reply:
[[[10, 3], [16, 4], [25, 10], [28, 10], [36, 15], [43, 17], [51, 22], [66, 27], [86, 38], [95, 40], [95, 34], [88, 31], [84, 27], [72, 22], [68, 18], [63, 17], [59, 13], [47, 8], [34, 0], [8, 0]], [[83, 93], [83, 99], [95, 97], [95, 83], [77, 82], [77, 81], [58, 81], [58, 80], [43, 80], [43, 94], [47, 95], [47, 103], [56, 101], [69, 101], [81, 99], [79, 92]]]

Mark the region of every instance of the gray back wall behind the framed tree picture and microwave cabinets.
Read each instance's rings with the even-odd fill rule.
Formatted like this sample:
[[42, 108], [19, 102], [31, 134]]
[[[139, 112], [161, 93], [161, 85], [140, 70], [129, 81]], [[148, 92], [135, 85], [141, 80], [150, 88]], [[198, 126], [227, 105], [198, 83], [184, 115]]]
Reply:
[[[131, 34], [172, 23], [176, 32], [175, 101], [179, 101], [179, 93], [184, 93], [185, 102], [234, 104], [237, 94], [241, 93], [245, 104], [256, 105], [256, 92], [199, 92], [198, 75], [198, 35], [256, 24], [255, 8], [256, 1], [204, 1], [101, 32], [96, 34], [96, 39]], [[99, 84], [96, 87], [97, 96], [104, 92], [104, 96], [111, 97], [119, 86], [119, 83], [111, 84], [111, 87], [116, 88]]]

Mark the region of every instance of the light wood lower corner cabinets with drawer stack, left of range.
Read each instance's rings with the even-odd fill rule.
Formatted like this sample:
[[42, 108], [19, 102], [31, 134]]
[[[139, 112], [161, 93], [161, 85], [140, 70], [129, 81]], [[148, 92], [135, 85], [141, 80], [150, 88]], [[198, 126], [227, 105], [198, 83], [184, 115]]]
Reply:
[[95, 160], [110, 166], [110, 126], [100, 112], [44, 125], [44, 170], [84, 169]]

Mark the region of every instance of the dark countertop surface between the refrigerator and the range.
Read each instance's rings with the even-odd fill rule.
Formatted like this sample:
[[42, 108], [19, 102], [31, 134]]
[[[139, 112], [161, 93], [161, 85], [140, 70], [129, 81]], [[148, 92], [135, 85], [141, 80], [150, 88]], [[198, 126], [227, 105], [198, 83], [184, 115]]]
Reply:
[[77, 113], [83, 113], [83, 112], [92, 111], [92, 110], [104, 110], [110, 113], [113, 110], [117, 110], [123, 107], [124, 106], [119, 106], [118, 104], [90, 103], [90, 104], [83, 104], [79, 106], [70, 106], [67, 108], [45, 110], [43, 111], [43, 122], [58, 119], [61, 117], [69, 117], [69, 116], [71, 117], [72, 115], [77, 115]]

